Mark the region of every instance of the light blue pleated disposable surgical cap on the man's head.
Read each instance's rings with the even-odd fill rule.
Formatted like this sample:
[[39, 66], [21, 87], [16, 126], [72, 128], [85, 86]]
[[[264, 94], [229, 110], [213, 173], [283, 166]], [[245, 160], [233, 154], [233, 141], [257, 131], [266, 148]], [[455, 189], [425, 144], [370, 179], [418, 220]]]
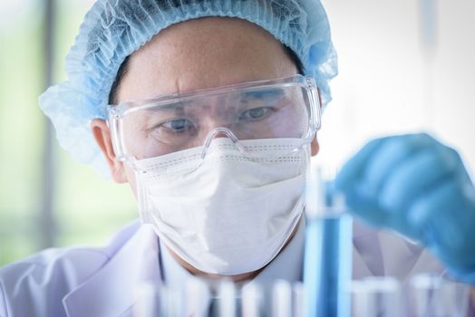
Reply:
[[61, 146], [74, 159], [108, 174], [91, 120], [106, 119], [121, 63], [171, 24], [228, 16], [260, 25], [292, 49], [315, 78], [326, 105], [337, 73], [330, 26], [320, 0], [98, 0], [86, 14], [66, 57], [67, 80], [40, 96]]

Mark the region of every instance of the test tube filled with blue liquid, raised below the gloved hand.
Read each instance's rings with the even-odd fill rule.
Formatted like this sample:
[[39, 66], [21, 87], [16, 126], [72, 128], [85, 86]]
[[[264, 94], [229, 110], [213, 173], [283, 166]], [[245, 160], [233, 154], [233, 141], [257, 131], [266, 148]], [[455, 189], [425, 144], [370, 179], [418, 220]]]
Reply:
[[327, 191], [310, 168], [305, 188], [305, 315], [347, 317], [351, 312], [352, 218], [344, 198]]

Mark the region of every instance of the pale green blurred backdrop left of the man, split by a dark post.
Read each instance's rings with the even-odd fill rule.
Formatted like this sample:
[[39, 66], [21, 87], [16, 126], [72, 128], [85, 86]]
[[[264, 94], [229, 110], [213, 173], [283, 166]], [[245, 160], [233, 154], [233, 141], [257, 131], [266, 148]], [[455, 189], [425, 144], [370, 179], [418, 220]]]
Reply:
[[[47, 120], [37, 102], [45, 89], [44, 1], [21, 2], [32, 5], [18, 5], [15, 16], [0, 24], [0, 265], [45, 246], [38, 224], [46, 187]], [[90, 0], [57, 1], [53, 82], [64, 79], [64, 57], [91, 5]], [[74, 162], [55, 140], [54, 145], [53, 246], [106, 244], [138, 215], [131, 189]]]

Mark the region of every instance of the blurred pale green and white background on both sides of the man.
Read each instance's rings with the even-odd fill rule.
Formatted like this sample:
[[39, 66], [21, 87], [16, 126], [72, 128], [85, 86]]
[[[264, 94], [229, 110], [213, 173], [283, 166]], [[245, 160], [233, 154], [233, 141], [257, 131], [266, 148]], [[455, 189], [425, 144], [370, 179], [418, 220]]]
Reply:
[[[315, 160], [338, 168], [369, 139], [425, 130], [475, 167], [475, 2], [323, 3], [340, 75]], [[0, 1], [0, 265], [49, 246], [104, 245], [138, 215], [129, 187], [58, 147], [37, 106], [64, 79], [64, 57], [91, 5]]]

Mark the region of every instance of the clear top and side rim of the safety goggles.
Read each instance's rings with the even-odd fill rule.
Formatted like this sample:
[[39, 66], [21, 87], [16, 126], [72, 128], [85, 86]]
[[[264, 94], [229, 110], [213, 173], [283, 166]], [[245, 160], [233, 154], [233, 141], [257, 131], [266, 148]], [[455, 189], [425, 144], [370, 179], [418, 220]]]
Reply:
[[310, 118], [308, 130], [302, 139], [304, 140], [305, 144], [308, 144], [312, 141], [312, 139], [314, 139], [316, 131], [321, 129], [322, 105], [320, 102], [320, 92], [313, 77], [296, 74], [293, 76], [272, 80], [236, 83], [218, 88], [174, 93], [149, 100], [123, 101], [117, 105], [108, 105], [107, 123], [109, 125], [109, 129], [111, 130], [111, 142], [115, 156], [122, 162], [136, 160], [135, 158], [127, 155], [127, 148], [124, 142], [122, 120], [128, 113], [139, 110], [147, 110], [158, 106], [167, 106], [172, 103], [176, 103], [177, 101], [190, 101], [197, 96], [207, 97], [234, 91], [259, 91], [262, 89], [276, 89], [285, 87], [300, 87], [306, 92], [306, 97], [310, 103]]

